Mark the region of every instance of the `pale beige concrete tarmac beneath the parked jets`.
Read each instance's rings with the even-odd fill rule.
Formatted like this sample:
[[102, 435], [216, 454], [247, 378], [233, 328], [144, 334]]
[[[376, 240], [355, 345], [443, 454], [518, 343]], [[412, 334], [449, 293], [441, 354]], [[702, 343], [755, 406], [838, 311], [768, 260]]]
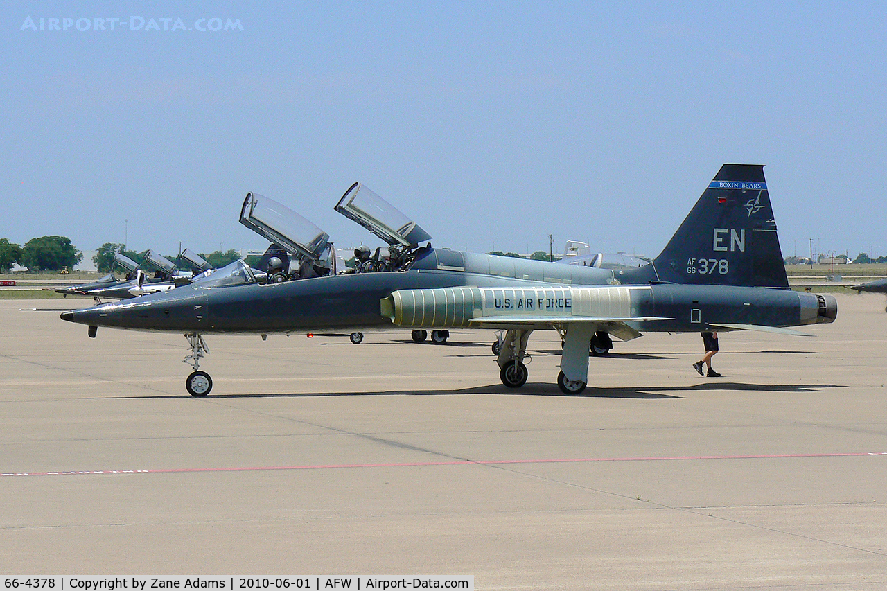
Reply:
[[473, 574], [478, 589], [883, 589], [883, 296], [812, 337], [649, 334], [561, 395], [560, 342], [208, 336], [0, 301], [0, 571]]

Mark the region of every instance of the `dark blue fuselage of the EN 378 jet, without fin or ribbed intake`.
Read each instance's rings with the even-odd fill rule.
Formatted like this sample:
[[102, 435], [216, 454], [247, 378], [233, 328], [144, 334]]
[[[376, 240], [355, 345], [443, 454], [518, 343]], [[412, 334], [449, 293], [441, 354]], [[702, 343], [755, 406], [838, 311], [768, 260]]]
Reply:
[[[570, 265], [559, 265], [569, 270]], [[577, 268], [581, 270], [581, 267]], [[588, 269], [588, 268], [586, 268]], [[601, 270], [594, 270], [601, 271]], [[594, 278], [596, 279], [596, 278]], [[524, 280], [475, 272], [412, 269], [318, 277], [276, 284], [227, 287], [184, 286], [167, 293], [65, 312], [63, 319], [87, 324], [177, 333], [299, 333], [325, 329], [392, 327], [381, 300], [398, 290], [489, 288], [569, 294], [601, 282]], [[529, 292], [528, 292], [529, 293]], [[632, 323], [648, 331], [702, 331], [718, 324], [792, 327], [831, 321], [834, 298], [783, 289], [653, 284], [631, 290], [631, 314], [659, 318]], [[828, 316], [831, 315], [831, 319]], [[430, 317], [429, 317], [430, 318]], [[468, 322], [428, 323], [428, 327], [467, 327]], [[541, 327], [541, 326], [540, 326]]]

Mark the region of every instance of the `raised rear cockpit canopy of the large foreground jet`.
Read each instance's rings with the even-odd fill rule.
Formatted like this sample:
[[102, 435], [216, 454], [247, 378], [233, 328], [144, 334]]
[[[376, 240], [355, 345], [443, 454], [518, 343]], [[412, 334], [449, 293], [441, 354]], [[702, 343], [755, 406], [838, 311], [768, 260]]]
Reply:
[[416, 246], [420, 242], [431, 240], [431, 236], [420, 225], [360, 183], [351, 185], [336, 203], [335, 210], [364, 226], [391, 246]]

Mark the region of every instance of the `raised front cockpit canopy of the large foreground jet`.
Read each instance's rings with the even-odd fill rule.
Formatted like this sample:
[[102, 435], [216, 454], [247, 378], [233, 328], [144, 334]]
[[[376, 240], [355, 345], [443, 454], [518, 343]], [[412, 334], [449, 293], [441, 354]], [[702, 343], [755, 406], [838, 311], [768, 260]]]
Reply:
[[330, 238], [286, 205], [257, 193], [247, 193], [240, 209], [240, 224], [302, 260], [318, 260]]

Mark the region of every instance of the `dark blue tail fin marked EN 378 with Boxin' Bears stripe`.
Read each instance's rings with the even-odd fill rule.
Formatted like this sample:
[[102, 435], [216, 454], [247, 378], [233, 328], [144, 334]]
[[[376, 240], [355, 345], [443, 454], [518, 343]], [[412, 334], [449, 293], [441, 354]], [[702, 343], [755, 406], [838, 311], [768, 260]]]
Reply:
[[722, 166], [653, 268], [671, 283], [788, 288], [764, 166]]

